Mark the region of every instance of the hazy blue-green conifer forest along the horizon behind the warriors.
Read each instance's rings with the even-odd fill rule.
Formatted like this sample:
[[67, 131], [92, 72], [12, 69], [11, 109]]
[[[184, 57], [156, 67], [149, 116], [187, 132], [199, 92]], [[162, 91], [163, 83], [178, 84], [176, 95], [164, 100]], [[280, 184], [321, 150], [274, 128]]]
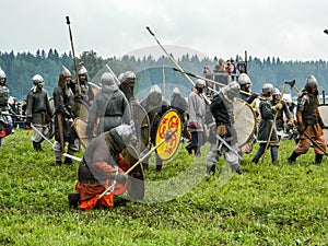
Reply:
[[[232, 56], [233, 57], [233, 56]], [[202, 75], [202, 70], [206, 63], [214, 68], [218, 63], [218, 58], [199, 59], [197, 55], [186, 54], [177, 59], [179, 66], [188, 72]], [[223, 58], [230, 59], [230, 58]], [[239, 55], [235, 55], [235, 61], [242, 60]], [[154, 59], [151, 55], [144, 55], [143, 58], [133, 56], [122, 56], [120, 58], [102, 58], [94, 50], [83, 51], [77, 57], [78, 65], [84, 63], [89, 72], [89, 81], [94, 81], [97, 72], [107, 63], [112, 70], [118, 75], [119, 73], [131, 70], [138, 74], [141, 71], [150, 68], [173, 68], [174, 65], [167, 57]], [[72, 54], [59, 55], [56, 49], [37, 50], [35, 55], [31, 52], [1, 52], [0, 67], [7, 74], [7, 84], [10, 89], [11, 96], [23, 101], [30, 89], [32, 87], [32, 77], [35, 74], [43, 75], [45, 80], [44, 87], [48, 91], [49, 96], [52, 90], [57, 86], [59, 70], [61, 66], [66, 66], [75, 77], [74, 60]], [[318, 89], [321, 93], [328, 84], [328, 65], [326, 60], [311, 61], [283, 61], [280, 58], [268, 57], [259, 59], [249, 56], [247, 58], [247, 72], [253, 82], [253, 91], [259, 93], [263, 83], [270, 82], [281, 90], [284, 80], [295, 80], [296, 87], [304, 86], [306, 77], [314, 74], [318, 81]], [[98, 77], [97, 77], [98, 78]], [[286, 93], [294, 93], [290, 89]]]

